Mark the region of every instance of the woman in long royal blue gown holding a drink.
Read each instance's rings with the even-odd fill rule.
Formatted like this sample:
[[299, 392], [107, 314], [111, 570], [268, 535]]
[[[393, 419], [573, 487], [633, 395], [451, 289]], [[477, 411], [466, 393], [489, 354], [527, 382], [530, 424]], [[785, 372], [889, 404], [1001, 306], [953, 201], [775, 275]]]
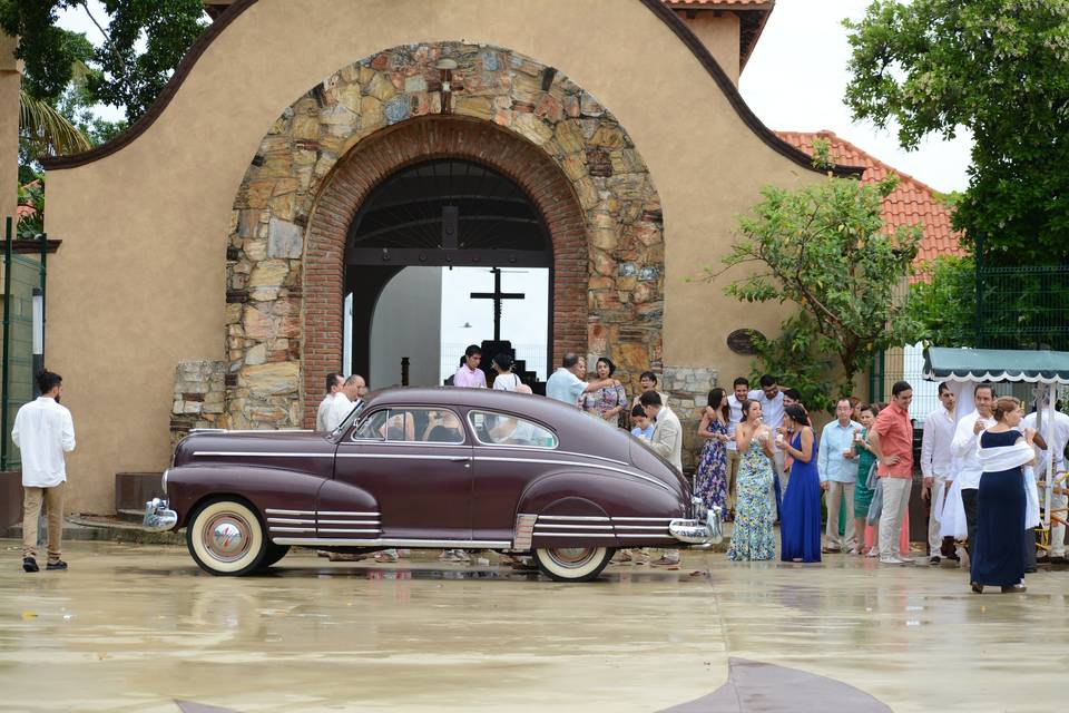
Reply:
[[821, 478], [816, 469], [816, 436], [805, 409], [793, 403], [784, 410], [788, 437], [776, 447], [794, 459], [791, 487], [779, 514], [779, 558], [783, 561], [821, 561]]

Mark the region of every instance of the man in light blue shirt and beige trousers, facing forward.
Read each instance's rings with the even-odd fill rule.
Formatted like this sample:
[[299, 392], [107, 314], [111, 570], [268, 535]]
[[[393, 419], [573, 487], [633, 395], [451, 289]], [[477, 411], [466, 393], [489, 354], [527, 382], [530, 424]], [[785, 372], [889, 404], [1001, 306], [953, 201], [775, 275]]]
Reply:
[[[840, 399], [835, 404], [836, 420], [821, 431], [817, 467], [821, 488], [827, 491], [827, 527], [824, 529], [824, 553], [849, 551], [857, 554], [857, 537], [854, 533], [854, 484], [857, 481], [857, 455], [854, 451], [855, 434], [861, 434], [861, 423], [851, 420], [850, 399]], [[846, 498], [846, 536], [838, 535], [838, 507]], [[864, 533], [862, 533], [864, 537]]]

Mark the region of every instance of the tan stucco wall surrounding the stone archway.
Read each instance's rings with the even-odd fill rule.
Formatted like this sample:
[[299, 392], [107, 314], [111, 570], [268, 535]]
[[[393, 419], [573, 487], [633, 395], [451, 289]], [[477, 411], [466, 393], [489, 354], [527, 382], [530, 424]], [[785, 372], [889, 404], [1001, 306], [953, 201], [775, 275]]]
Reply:
[[[596, 28], [592, 31], [591, 28]], [[116, 471], [163, 468], [175, 364], [223, 359], [226, 235], [239, 182], [278, 113], [337, 68], [385, 47], [465, 40], [559, 68], [616, 114], [664, 204], [666, 365], [743, 372], [738, 326], [773, 333], [716, 264], [766, 183], [815, 177], [768, 148], [671, 30], [624, 0], [261, 0], [200, 58], [133, 144], [48, 175], [48, 363], [65, 377], [79, 449], [72, 509], [110, 510]]]

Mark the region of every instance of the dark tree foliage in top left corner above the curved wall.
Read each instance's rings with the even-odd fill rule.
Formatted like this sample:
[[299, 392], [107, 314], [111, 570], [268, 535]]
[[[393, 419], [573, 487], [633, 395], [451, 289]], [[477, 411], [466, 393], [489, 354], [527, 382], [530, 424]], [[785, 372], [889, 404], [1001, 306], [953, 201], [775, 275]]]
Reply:
[[[0, 27], [18, 36], [26, 62], [27, 91], [56, 104], [87, 68], [89, 104], [126, 109], [134, 121], [156, 99], [189, 46], [204, 31], [200, 0], [102, 0], [107, 18], [95, 17], [86, 0], [0, 0]], [[56, 25], [61, 10], [88, 13], [104, 33], [99, 47]]]

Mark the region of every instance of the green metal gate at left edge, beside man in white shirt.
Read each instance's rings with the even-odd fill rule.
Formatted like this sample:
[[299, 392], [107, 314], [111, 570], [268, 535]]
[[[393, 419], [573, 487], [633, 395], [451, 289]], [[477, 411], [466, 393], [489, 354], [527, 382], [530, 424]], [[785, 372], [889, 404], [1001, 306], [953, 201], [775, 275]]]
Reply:
[[[47, 240], [39, 236], [40, 253], [33, 257], [14, 253], [11, 218], [7, 219], [3, 248], [3, 362], [0, 364], [0, 470], [17, 469], [21, 456], [11, 442], [11, 427], [19, 408], [35, 394], [33, 377], [43, 354], [45, 276]], [[33, 301], [38, 297], [35, 330]], [[37, 349], [35, 350], [35, 331]]]

